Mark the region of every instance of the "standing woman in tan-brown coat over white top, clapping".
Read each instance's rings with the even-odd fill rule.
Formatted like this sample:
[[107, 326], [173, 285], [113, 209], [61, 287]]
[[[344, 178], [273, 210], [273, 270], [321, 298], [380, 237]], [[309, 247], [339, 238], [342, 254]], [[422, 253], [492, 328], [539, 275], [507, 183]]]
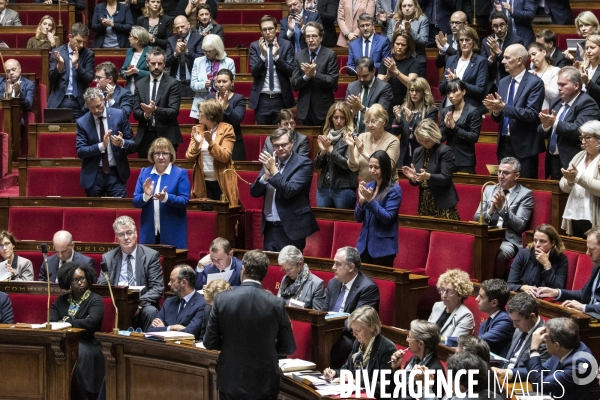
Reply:
[[192, 140], [185, 158], [194, 162], [193, 199], [220, 200], [224, 194], [229, 204], [238, 204], [237, 176], [231, 152], [235, 143], [233, 127], [223, 122], [223, 108], [215, 99], [199, 103], [200, 124], [192, 127]]

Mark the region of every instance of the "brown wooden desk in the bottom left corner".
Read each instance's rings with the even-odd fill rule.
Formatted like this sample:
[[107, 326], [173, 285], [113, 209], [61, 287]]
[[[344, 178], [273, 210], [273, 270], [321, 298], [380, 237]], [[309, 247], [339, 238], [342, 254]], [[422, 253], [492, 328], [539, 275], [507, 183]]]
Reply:
[[[0, 325], [0, 398], [71, 398], [82, 329], [46, 331]], [[12, 378], [9, 378], [12, 377]]]

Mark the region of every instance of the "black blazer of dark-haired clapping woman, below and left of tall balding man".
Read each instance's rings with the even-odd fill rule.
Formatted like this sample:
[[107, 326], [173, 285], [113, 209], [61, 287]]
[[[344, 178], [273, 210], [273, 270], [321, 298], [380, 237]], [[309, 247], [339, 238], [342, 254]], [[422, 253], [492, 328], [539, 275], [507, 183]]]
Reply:
[[454, 128], [450, 129], [444, 121], [446, 114], [453, 112], [453, 105], [442, 110], [442, 118], [440, 119], [442, 141], [447, 140], [446, 144], [454, 151], [455, 166], [475, 167], [477, 165], [475, 143], [479, 140], [479, 133], [481, 132], [481, 113], [477, 107], [465, 102], [460, 117], [454, 122]]

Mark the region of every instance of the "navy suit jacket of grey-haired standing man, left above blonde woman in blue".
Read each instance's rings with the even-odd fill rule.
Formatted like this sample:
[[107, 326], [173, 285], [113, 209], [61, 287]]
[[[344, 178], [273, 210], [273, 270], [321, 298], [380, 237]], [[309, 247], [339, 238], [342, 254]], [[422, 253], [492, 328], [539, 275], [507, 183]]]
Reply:
[[[127, 161], [127, 155], [135, 153], [136, 144], [133, 139], [133, 133], [131, 132], [131, 126], [127, 116], [123, 114], [123, 111], [114, 108], [106, 109], [106, 120], [108, 122], [108, 129], [112, 130], [111, 135], [119, 135], [119, 132], [123, 133], [123, 147], [115, 146], [109, 142], [109, 146], [112, 150], [113, 157], [115, 159], [117, 173], [121, 181], [127, 182], [129, 179], [129, 162]], [[99, 144], [100, 135], [96, 130], [96, 121], [91, 112], [87, 112], [76, 121], [76, 148], [77, 157], [81, 161], [81, 176], [79, 184], [85, 189], [89, 189], [94, 185], [96, 174], [102, 160], [102, 152], [100, 151]], [[108, 131], [106, 131], [108, 133]], [[104, 151], [107, 151], [105, 149]]]

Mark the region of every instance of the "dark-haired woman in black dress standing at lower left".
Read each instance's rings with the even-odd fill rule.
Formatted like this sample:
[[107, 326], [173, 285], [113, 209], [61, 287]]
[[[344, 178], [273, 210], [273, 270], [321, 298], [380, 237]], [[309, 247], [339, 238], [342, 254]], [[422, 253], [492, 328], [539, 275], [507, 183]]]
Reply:
[[104, 379], [102, 346], [94, 334], [102, 328], [104, 300], [90, 290], [96, 271], [87, 264], [65, 263], [58, 270], [58, 286], [69, 292], [58, 297], [50, 309], [51, 322], [68, 322], [84, 329], [79, 335], [79, 357], [73, 373], [74, 399], [96, 399]]

